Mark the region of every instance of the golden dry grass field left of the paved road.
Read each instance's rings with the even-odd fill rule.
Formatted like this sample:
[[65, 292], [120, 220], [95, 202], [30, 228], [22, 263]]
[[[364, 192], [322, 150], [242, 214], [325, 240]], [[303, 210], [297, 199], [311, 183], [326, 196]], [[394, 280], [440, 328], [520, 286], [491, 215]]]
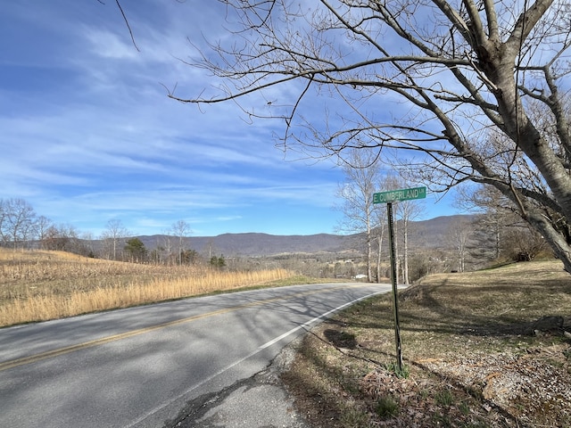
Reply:
[[0, 326], [234, 290], [293, 275], [284, 269], [225, 272], [0, 248]]

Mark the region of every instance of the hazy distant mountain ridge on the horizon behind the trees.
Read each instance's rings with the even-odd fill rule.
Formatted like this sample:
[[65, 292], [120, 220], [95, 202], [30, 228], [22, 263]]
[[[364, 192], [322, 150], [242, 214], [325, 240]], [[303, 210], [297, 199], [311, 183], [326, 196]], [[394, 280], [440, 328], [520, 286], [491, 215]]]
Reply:
[[[454, 215], [410, 222], [410, 243], [426, 249], [441, 247], [446, 242], [446, 234], [454, 222], [471, 221], [473, 218], [475, 218], [474, 215]], [[145, 243], [145, 247], [149, 250], [158, 246], [164, 247], [167, 239], [170, 239], [172, 248], [178, 246], [178, 238], [175, 236], [145, 235], [137, 237]], [[252, 232], [217, 236], [189, 236], [184, 238], [184, 241], [185, 248], [193, 249], [202, 254], [258, 257], [291, 253], [354, 251], [362, 243], [362, 237], [362, 234], [269, 235]]]

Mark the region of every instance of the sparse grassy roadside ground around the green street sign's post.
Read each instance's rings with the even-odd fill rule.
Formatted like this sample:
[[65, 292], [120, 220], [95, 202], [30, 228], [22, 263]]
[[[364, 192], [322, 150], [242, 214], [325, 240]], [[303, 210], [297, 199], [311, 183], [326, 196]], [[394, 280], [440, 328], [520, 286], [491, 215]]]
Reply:
[[390, 294], [304, 337], [283, 380], [312, 426], [571, 426], [571, 276], [559, 261], [428, 276], [399, 302], [405, 373]]

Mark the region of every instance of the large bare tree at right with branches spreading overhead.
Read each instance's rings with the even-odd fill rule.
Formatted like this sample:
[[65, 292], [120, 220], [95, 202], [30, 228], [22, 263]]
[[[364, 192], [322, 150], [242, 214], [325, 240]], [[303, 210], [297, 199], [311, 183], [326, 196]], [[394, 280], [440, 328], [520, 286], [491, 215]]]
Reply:
[[[235, 37], [191, 64], [220, 80], [172, 98], [282, 119], [280, 144], [311, 154], [409, 151], [395, 165], [433, 191], [492, 185], [571, 272], [567, 0], [219, 1]], [[326, 96], [347, 108], [317, 118]], [[505, 139], [488, 144], [486, 129]], [[535, 182], [515, 179], [524, 169]]]

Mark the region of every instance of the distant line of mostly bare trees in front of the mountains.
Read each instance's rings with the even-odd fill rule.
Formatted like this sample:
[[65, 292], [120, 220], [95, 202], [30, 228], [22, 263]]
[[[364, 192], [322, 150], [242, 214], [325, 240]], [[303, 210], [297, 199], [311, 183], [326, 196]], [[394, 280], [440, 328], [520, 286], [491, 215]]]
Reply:
[[[355, 168], [356, 165], [361, 165], [361, 168]], [[387, 175], [380, 164], [368, 159], [363, 151], [352, 153], [352, 165], [346, 165], [344, 172], [345, 181], [339, 185], [337, 192], [340, 203], [335, 207], [343, 212], [338, 231], [362, 237], [356, 250], [362, 254], [365, 271], [358, 268], [360, 262], [348, 264], [335, 261], [335, 258], [310, 263], [292, 256], [285, 261], [269, 258], [273, 261], [268, 263], [272, 266], [277, 263], [315, 276], [349, 277], [364, 273], [368, 281], [381, 281], [388, 275], [385, 205], [373, 204], [372, 197], [379, 190], [410, 185], [401, 177]], [[501, 193], [493, 192], [489, 187], [468, 189], [460, 194], [459, 206], [477, 215], [470, 220], [451, 223], [442, 237], [442, 245], [426, 251], [415, 238], [414, 220], [422, 213], [422, 204], [416, 201], [394, 204], [397, 220], [395, 250], [400, 283], [409, 284], [434, 272], [461, 272], [482, 268], [493, 262], [531, 260], [547, 251], [546, 240], [517, 216], [516, 207], [511, 206]], [[0, 244], [4, 247], [70, 251], [86, 257], [138, 263], [200, 263], [214, 268], [260, 268], [248, 260], [226, 259], [217, 254], [212, 246], [200, 254], [191, 248], [191, 233], [188, 224], [178, 220], [162, 235], [157, 235], [153, 249], [149, 250], [140, 238], [132, 236], [119, 219], [109, 220], [103, 233], [95, 238], [89, 233], [80, 233], [74, 226], [54, 225], [49, 218], [38, 216], [23, 199], [0, 199]], [[263, 265], [261, 260], [256, 259], [256, 263]], [[296, 260], [298, 262], [294, 263]]]

